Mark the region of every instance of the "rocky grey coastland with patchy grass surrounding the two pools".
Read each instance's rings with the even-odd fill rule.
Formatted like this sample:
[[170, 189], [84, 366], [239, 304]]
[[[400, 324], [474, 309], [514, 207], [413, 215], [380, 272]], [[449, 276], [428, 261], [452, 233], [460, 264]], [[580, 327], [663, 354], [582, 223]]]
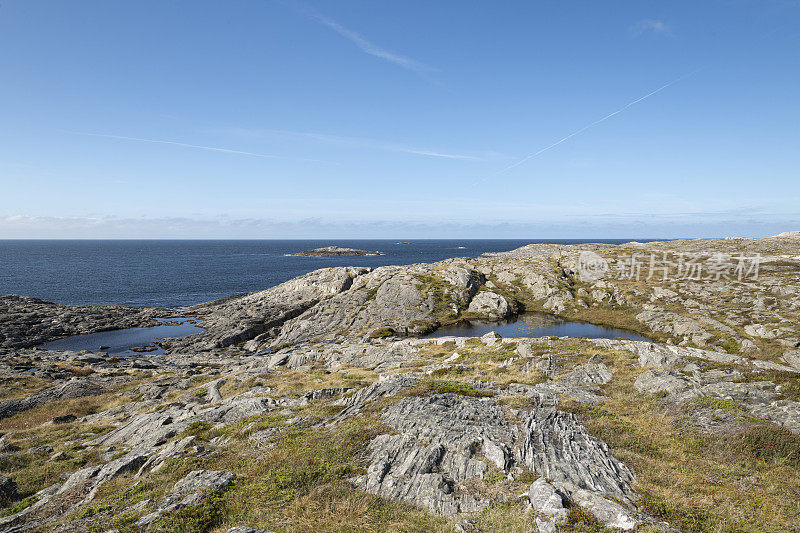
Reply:
[[[627, 268], [667, 254], [732, 263]], [[653, 342], [424, 338], [522, 311]], [[0, 531], [800, 523], [796, 234], [325, 268], [191, 314], [163, 354], [109, 357], [36, 346], [170, 315], [0, 297]]]

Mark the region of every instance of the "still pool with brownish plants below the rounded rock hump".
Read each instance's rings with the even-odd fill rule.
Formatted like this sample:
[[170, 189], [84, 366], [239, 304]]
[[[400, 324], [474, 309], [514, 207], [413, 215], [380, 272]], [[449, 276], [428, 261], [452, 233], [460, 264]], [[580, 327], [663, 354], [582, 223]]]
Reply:
[[574, 322], [538, 313], [526, 313], [503, 322], [477, 322], [434, 331], [427, 337], [480, 337], [496, 331], [502, 337], [587, 337], [589, 339], [629, 339], [649, 341], [636, 333], [586, 322]]

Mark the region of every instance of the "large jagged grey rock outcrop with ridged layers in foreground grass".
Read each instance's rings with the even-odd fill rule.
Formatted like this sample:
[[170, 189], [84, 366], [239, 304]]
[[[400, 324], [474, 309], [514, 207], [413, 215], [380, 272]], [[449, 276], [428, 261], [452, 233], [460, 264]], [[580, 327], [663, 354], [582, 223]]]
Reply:
[[[542, 405], [516, 416], [523, 418], [521, 425], [510, 422], [493, 398], [403, 398], [382, 417], [395, 433], [370, 442], [367, 474], [354, 483], [445, 516], [489, 505], [470, 489], [470, 480], [483, 478], [490, 467], [506, 473], [530, 469], [554, 480], [565, 498], [579, 490], [619, 501], [636, 497], [630, 470], [573, 415]], [[542, 506], [552, 496], [533, 493]]]

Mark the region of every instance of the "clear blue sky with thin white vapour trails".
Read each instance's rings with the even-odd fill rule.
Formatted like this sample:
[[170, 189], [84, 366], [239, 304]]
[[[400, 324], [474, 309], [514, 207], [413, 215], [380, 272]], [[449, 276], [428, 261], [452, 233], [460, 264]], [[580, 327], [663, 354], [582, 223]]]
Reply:
[[0, 238], [800, 229], [798, 2], [3, 0], [0, 72]]

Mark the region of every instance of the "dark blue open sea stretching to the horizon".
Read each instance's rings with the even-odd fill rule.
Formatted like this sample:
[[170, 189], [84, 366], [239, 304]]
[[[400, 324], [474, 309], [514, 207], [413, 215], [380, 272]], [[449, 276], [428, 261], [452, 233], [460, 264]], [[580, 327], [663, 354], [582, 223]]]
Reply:
[[[0, 294], [64, 304], [183, 307], [266, 289], [332, 266], [405, 265], [477, 257], [534, 242], [624, 240], [0, 240]], [[363, 257], [299, 257], [321, 246], [376, 250]]]

